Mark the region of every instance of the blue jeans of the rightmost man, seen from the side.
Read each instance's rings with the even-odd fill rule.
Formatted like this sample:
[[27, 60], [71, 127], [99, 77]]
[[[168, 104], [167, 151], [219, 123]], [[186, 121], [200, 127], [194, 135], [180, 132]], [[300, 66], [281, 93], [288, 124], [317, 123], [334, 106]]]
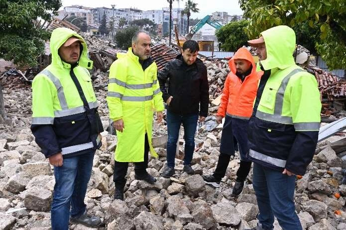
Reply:
[[274, 216], [283, 230], [302, 230], [294, 206], [295, 176], [253, 163], [255, 190], [262, 228], [272, 230]]

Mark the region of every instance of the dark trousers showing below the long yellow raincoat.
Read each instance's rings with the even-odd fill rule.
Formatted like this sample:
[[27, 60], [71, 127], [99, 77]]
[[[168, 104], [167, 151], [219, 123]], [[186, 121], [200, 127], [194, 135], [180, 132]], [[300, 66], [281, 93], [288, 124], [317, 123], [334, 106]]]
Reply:
[[[148, 153], [149, 153], [149, 142], [148, 136], [145, 134], [144, 140], [144, 161], [142, 162], [133, 162], [134, 163], [134, 173], [136, 175], [144, 175], [147, 173], [146, 168], [148, 167]], [[123, 188], [126, 184], [126, 173], [127, 173], [128, 162], [114, 162], [114, 175], [113, 181], [115, 183], [115, 187]]]

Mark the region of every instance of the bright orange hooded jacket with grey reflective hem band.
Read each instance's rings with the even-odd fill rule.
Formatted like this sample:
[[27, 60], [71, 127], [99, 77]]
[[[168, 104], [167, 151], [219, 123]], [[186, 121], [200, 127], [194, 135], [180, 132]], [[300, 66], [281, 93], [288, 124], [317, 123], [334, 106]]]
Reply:
[[[235, 59], [244, 59], [252, 64], [251, 73], [244, 81], [235, 75]], [[246, 48], [240, 48], [229, 61], [231, 72], [226, 78], [224, 91], [221, 97], [217, 116], [225, 117], [227, 114], [233, 118], [248, 120], [252, 115], [253, 101], [256, 97], [258, 81], [263, 72], [256, 72], [255, 62]]]

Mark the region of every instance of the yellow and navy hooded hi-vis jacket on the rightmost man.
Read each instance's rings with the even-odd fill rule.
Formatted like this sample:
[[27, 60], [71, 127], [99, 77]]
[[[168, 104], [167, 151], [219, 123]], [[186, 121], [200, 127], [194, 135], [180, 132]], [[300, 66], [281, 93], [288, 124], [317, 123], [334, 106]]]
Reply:
[[263, 31], [267, 58], [261, 62], [254, 113], [249, 121], [249, 158], [303, 175], [320, 128], [321, 101], [315, 77], [295, 65], [295, 33], [288, 26]]

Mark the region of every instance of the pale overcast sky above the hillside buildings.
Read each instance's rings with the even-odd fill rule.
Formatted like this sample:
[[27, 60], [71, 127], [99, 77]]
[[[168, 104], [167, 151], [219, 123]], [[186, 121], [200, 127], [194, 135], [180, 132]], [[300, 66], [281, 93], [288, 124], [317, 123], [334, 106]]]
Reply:
[[[187, 0], [180, 0], [180, 8], [184, 8]], [[138, 8], [141, 10], [162, 9], [169, 7], [167, 0], [62, 0], [63, 6], [83, 5], [88, 7], [109, 7], [115, 4], [115, 8]], [[203, 18], [206, 15], [211, 15], [215, 11], [228, 12], [230, 15], [242, 14], [238, 0], [194, 0], [198, 3], [197, 8], [199, 13], [192, 13], [191, 18]], [[173, 8], [178, 8], [178, 2], [173, 1]], [[63, 9], [63, 7], [62, 7]]]

